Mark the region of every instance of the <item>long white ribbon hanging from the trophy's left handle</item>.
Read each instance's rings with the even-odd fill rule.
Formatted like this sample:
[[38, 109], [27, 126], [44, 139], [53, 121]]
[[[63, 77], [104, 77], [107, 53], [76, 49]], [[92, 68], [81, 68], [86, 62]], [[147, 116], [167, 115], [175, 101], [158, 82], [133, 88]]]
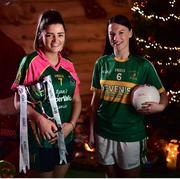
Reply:
[[20, 96], [20, 146], [19, 146], [19, 172], [26, 173], [29, 164], [29, 143], [28, 143], [28, 124], [27, 124], [27, 94], [25, 86], [18, 86]]

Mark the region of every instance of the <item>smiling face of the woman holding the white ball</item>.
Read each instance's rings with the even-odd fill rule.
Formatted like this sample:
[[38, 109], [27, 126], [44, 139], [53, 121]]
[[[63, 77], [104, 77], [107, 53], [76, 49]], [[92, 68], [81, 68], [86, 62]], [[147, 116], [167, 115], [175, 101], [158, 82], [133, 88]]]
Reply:
[[129, 30], [126, 26], [112, 23], [108, 26], [108, 36], [114, 51], [129, 51], [129, 39], [132, 37], [132, 30]]

